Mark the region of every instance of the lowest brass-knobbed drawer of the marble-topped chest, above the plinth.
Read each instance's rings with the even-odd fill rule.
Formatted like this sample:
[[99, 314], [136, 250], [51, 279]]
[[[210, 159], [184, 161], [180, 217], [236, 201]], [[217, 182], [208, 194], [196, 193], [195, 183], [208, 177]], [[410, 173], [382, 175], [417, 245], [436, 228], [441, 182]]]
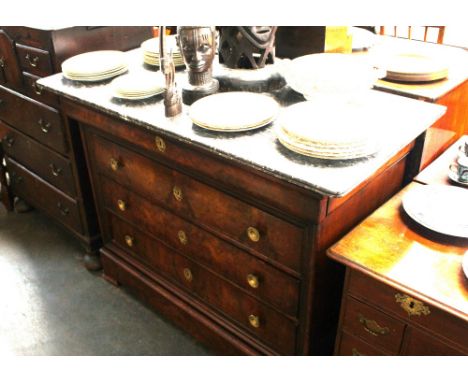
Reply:
[[280, 353], [294, 353], [296, 324], [293, 320], [140, 230], [115, 218], [112, 222], [114, 241], [130, 251], [133, 259], [149, 264], [160, 275], [219, 310]]

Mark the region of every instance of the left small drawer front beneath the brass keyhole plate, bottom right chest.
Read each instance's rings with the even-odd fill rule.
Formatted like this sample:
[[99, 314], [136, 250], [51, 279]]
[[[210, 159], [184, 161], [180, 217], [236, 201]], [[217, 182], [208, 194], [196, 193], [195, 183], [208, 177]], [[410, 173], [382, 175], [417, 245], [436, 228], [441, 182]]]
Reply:
[[344, 301], [342, 328], [367, 343], [398, 354], [405, 324], [352, 297]]

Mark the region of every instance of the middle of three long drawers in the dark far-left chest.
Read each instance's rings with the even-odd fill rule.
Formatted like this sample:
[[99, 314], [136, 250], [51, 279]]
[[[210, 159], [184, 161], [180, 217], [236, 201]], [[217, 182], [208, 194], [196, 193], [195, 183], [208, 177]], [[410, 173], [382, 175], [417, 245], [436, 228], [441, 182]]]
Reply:
[[[0, 121], [0, 124], [3, 122]], [[44, 147], [35, 140], [6, 126], [3, 150], [28, 169], [71, 197], [76, 196], [75, 181], [68, 159]]]

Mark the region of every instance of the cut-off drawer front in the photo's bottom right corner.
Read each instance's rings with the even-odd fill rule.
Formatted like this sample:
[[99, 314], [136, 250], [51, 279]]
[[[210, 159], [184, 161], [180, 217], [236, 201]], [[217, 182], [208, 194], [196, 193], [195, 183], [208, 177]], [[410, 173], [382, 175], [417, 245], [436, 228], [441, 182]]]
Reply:
[[465, 353], [462, 353], [460, 350], [454, 349], [449, 344], [431, 336], [429, 333], [411, 328], [404, 355], [468, 355], [468, 349], [466, 349]]

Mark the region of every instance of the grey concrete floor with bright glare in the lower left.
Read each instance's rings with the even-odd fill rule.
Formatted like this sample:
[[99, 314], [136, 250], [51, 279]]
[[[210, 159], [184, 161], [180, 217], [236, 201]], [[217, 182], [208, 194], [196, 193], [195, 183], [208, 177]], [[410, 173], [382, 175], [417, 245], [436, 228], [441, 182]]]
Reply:
[[211, 355], [88, 272], [78, 242], [38, 211], [0, 203], [0, 355]]

